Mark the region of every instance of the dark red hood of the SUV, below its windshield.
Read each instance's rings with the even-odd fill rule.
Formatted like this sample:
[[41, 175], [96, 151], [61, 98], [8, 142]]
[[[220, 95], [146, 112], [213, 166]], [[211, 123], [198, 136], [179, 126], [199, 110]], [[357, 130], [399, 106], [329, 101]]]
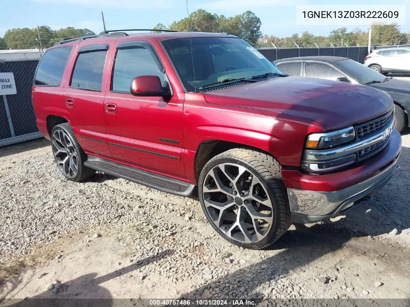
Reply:
[[364, 85], [304, 77], [277, 78], [204, 93], [208, 103], [287, 114], [341, 129], [393, 108], [392, 98]]

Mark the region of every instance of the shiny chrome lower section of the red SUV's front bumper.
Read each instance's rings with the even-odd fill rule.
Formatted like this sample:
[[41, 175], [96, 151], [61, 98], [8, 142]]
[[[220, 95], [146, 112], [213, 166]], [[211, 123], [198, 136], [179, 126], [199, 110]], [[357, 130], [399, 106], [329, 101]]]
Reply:
[[[351, 186], [326, 192], [288, 188], [292, 222], [312, 223], [335, 217], [350, 208], [354, 202], [376, 194], [393, 176], [400, 147], [400, 134], [394, 130], [387, 147], [372, 158], [372, 160], [377, 158], [387, 160], [388, 163], [379, 167], [376, 175]], [[340, 175], [343, 176], [343, 172]], [[356, 175], [360, 174], [356, 173]]]

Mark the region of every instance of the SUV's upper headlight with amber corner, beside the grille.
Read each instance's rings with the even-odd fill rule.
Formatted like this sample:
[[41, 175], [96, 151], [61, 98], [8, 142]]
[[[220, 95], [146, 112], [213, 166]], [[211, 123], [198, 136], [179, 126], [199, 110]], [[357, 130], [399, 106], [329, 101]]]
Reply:
[[306, 148], [326, 149], [352, 142], [355, 139], [355, 129], [353, 127], [327, 132], [313, 133], [308, 136]]

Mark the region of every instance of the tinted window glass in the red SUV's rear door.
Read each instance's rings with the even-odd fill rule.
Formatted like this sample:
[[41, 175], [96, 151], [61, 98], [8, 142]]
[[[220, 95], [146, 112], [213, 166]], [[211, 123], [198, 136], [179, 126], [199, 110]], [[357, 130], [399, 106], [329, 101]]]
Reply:
[[82, 52], [78, 55], [70, 86], [101, 91], [102, 72], [107, 50]]

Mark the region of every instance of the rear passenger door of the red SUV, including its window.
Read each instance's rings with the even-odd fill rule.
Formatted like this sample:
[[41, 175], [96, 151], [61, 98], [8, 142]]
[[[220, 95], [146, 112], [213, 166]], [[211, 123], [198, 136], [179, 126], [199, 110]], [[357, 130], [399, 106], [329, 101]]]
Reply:
[[66, 81], [63, 108], [82, 149], [92, 155], [110, 157], [104, 123], [104, 67], [110, 46], [83, 41], [76, 50], [71, 75]]

